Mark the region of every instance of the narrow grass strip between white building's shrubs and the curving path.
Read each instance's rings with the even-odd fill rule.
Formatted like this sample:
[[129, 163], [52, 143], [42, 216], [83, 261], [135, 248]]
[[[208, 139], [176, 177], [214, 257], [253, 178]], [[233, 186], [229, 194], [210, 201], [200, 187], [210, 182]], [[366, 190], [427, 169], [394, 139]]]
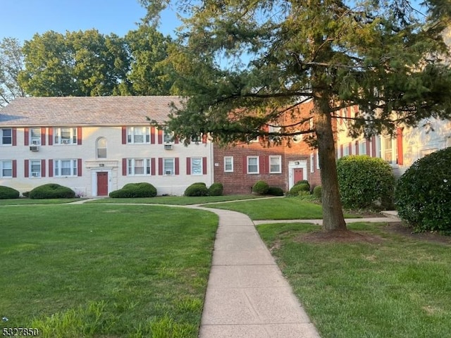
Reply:
[[223, 201], [237, 201], [242, 199], [259, 199], [262, 196], [247, 194], [247, 195], [225, 195], [225, 196], [199, 196], [199, 197], [186, 197], [186, 196], [156, 196], [152, 198], [140, 198], [140, 199], [95, 199], [89, 201], [89, 204], [171, 204], [177, 206], [187, 206], [192, 204], [206, 204], [216, 203]]

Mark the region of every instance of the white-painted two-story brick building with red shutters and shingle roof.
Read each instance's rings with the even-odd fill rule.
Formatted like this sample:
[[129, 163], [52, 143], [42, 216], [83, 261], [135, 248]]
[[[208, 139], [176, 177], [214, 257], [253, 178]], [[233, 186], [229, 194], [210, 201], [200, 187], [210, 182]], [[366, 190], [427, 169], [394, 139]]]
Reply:
[[184, 146], [163, 123], [176, 96], [18, 98], [0, 111], [0, 185], [27, 192], [53, 182], [80, 196], [107, 196], [130, 182], [183, 194], [213, 182], [206, 137]]

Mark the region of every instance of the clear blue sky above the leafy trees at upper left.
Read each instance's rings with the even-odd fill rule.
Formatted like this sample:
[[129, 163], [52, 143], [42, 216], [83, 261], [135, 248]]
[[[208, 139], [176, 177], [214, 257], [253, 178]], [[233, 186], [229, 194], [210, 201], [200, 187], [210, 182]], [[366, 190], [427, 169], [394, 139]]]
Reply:
[[[21, 43], [33, 35], [54, 30], [99, 30], [123, 37], [135, 30], [146, 11], [137, 0], [0, 0], [0, 40], [14, 37]], [[178, 26], [175, 15], [167, 12], [161, 20], [160, 32], [172, 35]]]

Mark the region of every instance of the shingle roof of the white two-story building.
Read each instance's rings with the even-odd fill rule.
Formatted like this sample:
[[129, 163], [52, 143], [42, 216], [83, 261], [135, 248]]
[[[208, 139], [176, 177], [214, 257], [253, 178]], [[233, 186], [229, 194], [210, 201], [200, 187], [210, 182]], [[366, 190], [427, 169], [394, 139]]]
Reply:
[[0, 126], [163, 123], [179, 96], [20, 97], [0, 111]]

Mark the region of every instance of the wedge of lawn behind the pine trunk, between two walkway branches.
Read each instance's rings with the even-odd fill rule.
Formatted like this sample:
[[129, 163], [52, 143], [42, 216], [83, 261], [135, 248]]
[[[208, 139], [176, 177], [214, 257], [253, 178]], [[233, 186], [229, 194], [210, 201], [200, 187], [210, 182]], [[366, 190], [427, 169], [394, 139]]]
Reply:
[[[245, 213], [252, 220], [314, 220], [323, 218], [323, 208], [320, 204], [288, 197], [212, 204], [206, 207], [238, 211]], [[357, 216], [347, 213], [345, 217], [356, 218]]]

